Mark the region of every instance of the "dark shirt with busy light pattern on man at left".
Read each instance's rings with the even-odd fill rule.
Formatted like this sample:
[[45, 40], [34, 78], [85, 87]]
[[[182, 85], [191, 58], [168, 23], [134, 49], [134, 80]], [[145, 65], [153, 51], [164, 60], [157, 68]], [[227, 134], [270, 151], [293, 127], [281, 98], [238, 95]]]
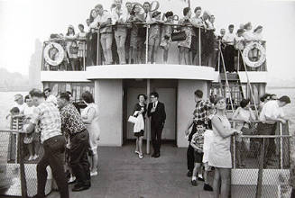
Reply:
[[61, 130], [65, 133], [66, 136], [72, 135], [86, 130], [86, 126], [82, 121], [78, 110], [72, 103], [67, 103], [60, 110], [61, 117]]

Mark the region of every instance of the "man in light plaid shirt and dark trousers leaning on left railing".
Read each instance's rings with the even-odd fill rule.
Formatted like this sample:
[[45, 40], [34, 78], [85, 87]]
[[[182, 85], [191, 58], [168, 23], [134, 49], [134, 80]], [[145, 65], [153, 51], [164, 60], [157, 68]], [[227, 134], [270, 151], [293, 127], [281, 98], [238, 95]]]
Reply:
[[32, 133], [39, 122], [41, 143], [44, 148], [44, 155], [37, 165], [37, 194], [33, 197], [45, 197], [46, 167], [51, 166], [53, 178], [59, 187], [60, 197], [69, 198], [69, 189], [64, 171], [66, 140], [60, 130], [60, 112], [53, 103], [45, 101], [44, 94], [40, 90], [32, 89], [29, 94], [36, 108], [26, 130], [28, 133]]

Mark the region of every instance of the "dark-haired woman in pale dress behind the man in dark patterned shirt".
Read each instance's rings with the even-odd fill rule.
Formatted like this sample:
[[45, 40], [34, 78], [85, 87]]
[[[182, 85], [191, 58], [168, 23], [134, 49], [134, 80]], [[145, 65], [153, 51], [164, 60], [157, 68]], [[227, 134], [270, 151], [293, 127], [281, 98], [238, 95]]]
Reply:
[[81, 112], [81, 117], [83, 122], [86, 124], [89, 132], [89, 145], [91, 149], [91, 167], [90, 175], [97, 175], [97, 165], [98, 165], [98, 140], [99, 140], [99, 125], [98, 125], [98, 107], [94, 103], [94, 99], [90, 92], [86, 91], [82, 94], [82, 99], [87, 107]]

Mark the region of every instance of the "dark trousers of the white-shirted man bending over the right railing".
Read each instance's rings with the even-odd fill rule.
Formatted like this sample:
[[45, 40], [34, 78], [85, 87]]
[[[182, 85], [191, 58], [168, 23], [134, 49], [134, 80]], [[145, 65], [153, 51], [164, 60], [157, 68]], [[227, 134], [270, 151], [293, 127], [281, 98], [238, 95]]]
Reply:
[[[259, 135], [275, 135], [276, 124], [267, 124], [267, 123], [258, 123], [257, 131]], [[263, 139], [262, 139], [263, 142]], [[275, 154], [276, 146], [274, 139], [265, 139], [264, 140], [264, 166], [266, 166], [269, 159], [272, 158], [272, 155]]]

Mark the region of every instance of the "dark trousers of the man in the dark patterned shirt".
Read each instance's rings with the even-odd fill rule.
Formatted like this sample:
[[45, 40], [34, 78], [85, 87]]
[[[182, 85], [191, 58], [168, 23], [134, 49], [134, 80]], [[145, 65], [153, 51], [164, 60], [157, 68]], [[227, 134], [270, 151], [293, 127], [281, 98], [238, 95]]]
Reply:
[[90, 169], [88, 162], [89, 148], [88, 130], [82, 130], [70, 139], [69, 165], [78, 185], [90, 184]]

